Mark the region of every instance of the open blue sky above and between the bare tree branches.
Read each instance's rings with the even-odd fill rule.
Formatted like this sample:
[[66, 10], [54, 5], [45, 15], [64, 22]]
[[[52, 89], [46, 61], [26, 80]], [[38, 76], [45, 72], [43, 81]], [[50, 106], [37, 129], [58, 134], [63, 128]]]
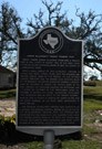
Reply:
[[[50, 0], [47, 0], [50, 2]], [[75, 9], [80, 8], [80, 12], [88, 14], [90, 10], [94, 11], [95, 14], [102, 13], [102, 0], [51, 0], [54, 4], [58, 1], [63, 1], [62, 12], [68, 12], [68, 18], [76, 21]], [[42, 4], [41, 0], [0, 0], [0, 6], [2, 2], [9, 2], [10, 6], [14, 7], [18, 14], [22, 19], [22, 26], [26, 26], [28, 19], [33, 18], [33, 13], [38, 14], [40, 8], [45, 13], [45, 7]], [[89, 71], [89, 68], [85, 68]], [[92, 71], [94, 73], [94, 70]], [[95, 71], [96, 72], [96, 71]], [[96, 72], [100, 76], [99, 72]]]

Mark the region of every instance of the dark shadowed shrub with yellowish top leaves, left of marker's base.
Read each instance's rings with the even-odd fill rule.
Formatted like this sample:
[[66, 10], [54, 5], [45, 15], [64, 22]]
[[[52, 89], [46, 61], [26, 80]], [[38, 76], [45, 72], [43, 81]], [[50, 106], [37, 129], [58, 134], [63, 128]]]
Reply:
[[27, 142], [42, 140], [41, 137], [28, 135], [16, 129], [16, 115], [12, 117], [0, 116], [0, 142]]

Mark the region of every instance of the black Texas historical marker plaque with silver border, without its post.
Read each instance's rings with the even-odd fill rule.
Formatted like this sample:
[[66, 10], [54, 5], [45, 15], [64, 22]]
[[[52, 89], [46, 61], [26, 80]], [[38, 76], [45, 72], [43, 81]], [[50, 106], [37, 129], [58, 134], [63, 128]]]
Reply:
[[82, 41], [45, 28], [19, 40], [17, 129], [64, 135], [82, 127]]

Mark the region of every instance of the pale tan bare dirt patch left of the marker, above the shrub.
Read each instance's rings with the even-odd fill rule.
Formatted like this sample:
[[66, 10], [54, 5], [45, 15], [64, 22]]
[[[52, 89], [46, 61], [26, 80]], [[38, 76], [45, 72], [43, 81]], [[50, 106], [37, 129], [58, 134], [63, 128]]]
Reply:
[[7, 117], [16, 114], [16, 99], [6, 98], [0, 99], [0, 115]]

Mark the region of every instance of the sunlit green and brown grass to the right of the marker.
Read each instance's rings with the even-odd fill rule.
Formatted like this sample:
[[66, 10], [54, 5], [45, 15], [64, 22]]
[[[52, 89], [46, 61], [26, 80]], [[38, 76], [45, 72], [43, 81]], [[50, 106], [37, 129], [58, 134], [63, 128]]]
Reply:
[[[102, 110], [102, 85], [96, 87], [84, 87], [84, 119], [83, 119], [83, 135], [90, 138], [91, 149], [102, 149], [102, 127], [96, 126], [95, 121], [102, 124], [102, 115], [98, 114]], [[99, 137], [100, 139], [96, 139]], [[93, 141], [95, 140], [95, 141]]]

